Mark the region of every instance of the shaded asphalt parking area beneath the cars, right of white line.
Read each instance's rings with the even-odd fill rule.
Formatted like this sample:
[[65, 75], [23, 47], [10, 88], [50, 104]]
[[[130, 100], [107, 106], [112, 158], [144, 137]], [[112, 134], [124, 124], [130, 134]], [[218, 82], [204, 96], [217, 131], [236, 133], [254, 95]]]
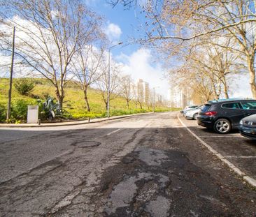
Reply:
[[239, 168], [247, 176], [256, 179], [256, 142], [240, 135], [238, 130], [232, 133], [220, 135], [213, 130], [198, 126], [197, 121], [187, 120], [182, 114], [178, 114], [180, 121], [197, 135], [200, 140], [206, 142], [211, 148], [221, 154], [235, 167]]

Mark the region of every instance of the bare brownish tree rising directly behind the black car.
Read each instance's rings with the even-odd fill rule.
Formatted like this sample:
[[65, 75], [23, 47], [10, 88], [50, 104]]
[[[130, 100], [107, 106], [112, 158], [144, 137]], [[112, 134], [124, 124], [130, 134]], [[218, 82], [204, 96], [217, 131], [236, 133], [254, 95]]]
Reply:
[[[241, 70], [240, 54], [232, 52], [229, 38], [222, 44], [205, 43], [195, 46], [189, 55], [186, 55], [186, 64], [194, 70], [201, 70], [204, 76], [211, 81], [215, 98], [219, 99], [222, 92], [229, 98], [227, 80]], [[200, 73], [200, 72], [199, 72]]]

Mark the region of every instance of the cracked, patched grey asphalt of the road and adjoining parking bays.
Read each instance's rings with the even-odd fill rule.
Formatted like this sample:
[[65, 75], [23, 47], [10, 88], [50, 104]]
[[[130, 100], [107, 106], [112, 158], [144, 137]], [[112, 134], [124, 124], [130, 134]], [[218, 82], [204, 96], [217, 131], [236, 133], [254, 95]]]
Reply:
[[[253, 142], [236, 133], [206, 137], [213, 134], [185, 124], [255, 177]], [[256, 214], [255, 189], [203, 147], [176, 112], [1, 129], [0, 172], [0, 216]]]

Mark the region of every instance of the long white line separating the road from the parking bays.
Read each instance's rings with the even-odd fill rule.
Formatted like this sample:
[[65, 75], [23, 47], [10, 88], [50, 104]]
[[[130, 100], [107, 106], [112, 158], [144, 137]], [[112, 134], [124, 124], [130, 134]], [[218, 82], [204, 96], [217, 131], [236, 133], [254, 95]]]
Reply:
[[210, 145], [208, 145], [204, 140], [201, 140], [200, 137], [198, 137], [195, 133], [188, 128], [183, 121], [180, 119], [179, 114], [177, 114], [178, 120], [180, 121], [180, 124], [182, 124], [201, 144], [204, 145], [209, 151], [211, 151], [215, 156], [217, 156], [223, 163], [227, 164], [227, 166], [232, 169], [236, 174], [238, 174], [240, 177], [243, 178], [243, 180], [247, 181], [248, 184], [250, 184], [253, 187], [256, 187], [256, 180], [252, 177], [249, 177], [246, 173], [242, 172], [238, 167], [236, 167], [233, 163], [231, 163], [229, 160], [227, 160], [222, 154], [218, 153], [215, 149], [213, 149]]

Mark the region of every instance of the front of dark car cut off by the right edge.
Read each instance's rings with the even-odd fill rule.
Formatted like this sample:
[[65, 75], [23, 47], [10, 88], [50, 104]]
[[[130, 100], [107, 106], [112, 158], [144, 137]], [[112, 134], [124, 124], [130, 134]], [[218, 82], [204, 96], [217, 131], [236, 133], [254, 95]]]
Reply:
[[244, 137], [256, 140], [256, 114], [241, 119], [239, 130]]

